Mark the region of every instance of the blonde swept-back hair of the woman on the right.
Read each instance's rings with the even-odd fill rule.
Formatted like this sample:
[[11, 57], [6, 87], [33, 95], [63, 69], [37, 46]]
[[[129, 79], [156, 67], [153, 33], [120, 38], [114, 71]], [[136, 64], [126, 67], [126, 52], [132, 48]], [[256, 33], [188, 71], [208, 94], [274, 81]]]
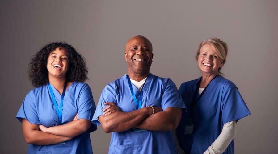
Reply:
[[[197, 50], [197, 53], [196, 53], [196, 56], [195, 56], [196, 60], [198, 60], [198, 57], [200, 55], [201, 47], [203, 47], [205, 44], [212, 45], [214, 51], [216, 52], [218, 57], [221, 59], [221, 61], [223, 63], [223, 66], [224, 66], [224, 64], [226, 62], [226, 57], [227, 57], [227, 54], [228, 54], [227, 43], [225, 43], [224, 41], [221, 41], [218, 38], [210, 38], [210, 39], [206, 39], [206, 40], [202, 41], [199, 45], [199, 49]], [[223, 74], [222, 72], [220, 72], [220, 70], [221, 70], [221, 67], [219, 67], [219, 69], [218, 69], [219, 74]]]

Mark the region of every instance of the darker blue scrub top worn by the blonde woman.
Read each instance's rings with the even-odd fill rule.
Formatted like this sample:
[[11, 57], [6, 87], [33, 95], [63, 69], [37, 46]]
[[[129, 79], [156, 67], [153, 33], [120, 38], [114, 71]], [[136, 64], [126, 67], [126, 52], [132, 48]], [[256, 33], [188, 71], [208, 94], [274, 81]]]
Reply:
[[[179, 88], [187, 108], [190, 108], [193, 102], [194, 92], [198, 88], [196, 83], [200, 79], [201, 77], [185, 82]], [[187, 111], [190, 112], [190, 110]], [[191, 134], [185, 135], [186, 125], [190, 123], [189, 115], [182, 118], [177, 128], [177, 137], [181, 148], [186, 153], [199, 154], [204, 153], [217, 139], [225, 123], [234, 120], [238, 121], [250, 115], [250, 111], [236, 85], [219, 75], [208, 84], [204, 94], [196, 102], [193, 110], [193, 123], [195, 123], [195, 126]], [[234, 153], [234, 140], [232, 140], [224, 153]]]

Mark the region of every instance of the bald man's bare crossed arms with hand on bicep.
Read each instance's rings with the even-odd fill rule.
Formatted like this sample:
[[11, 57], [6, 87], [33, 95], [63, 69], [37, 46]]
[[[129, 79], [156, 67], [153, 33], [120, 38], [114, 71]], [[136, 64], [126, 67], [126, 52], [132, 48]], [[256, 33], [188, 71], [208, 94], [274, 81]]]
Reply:
[[122, 112], [113, 102], [103, 109], [99, 122], [104, 132], [123, 132], [130, 128], [140, 128], [151, 131], [175, 130], [182, 116], [182, 109], [168, 107], [162, 111], [161, 107], [144, 107], [131, 112]]

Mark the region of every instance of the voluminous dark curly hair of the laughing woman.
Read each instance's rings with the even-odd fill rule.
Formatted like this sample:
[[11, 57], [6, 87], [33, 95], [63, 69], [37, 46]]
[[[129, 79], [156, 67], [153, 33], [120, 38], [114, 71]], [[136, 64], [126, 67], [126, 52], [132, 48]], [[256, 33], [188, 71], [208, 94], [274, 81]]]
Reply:
[[48, 70], [47, 70], [47, 59], [49, 54], [56, 48], [64, 49], [70, 59], [69, 70], [66, 74], [68, 82], [84, 82], [88, 79], [87, 67], [84, 58], [72, 47], [65, 42], [50, 43], [43, 47], [40, 51], [33, 56], [29, 63], [29, 79], [32, 85], [40, 87], [47, 84], [48, 81]]

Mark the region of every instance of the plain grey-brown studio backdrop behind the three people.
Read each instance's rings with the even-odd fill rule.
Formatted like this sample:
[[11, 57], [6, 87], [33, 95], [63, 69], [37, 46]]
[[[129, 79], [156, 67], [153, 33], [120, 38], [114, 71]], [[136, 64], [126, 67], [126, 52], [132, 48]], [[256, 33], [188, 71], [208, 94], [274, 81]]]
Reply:
[[[86, 59], [95, 103], [104, 86], [127, 73], [126, 41], [144, 35], [153, 43], [151, 73], [180, 84], [201, 74], [194, 59], [200, 41], [228, 43], [225, 77], [242, 94], [251, 115], [238, 122], [235, 152], [276, 153], [277, 6], [275, 0], [246, 1], [43, 1], [0, 4], [0, 153], [26, 153], [15, 118], [28, 91], [32, 57], [44, 45], [66, 41]], [[107, 153], [111, 134], [91, 133], [93, 152]]]

